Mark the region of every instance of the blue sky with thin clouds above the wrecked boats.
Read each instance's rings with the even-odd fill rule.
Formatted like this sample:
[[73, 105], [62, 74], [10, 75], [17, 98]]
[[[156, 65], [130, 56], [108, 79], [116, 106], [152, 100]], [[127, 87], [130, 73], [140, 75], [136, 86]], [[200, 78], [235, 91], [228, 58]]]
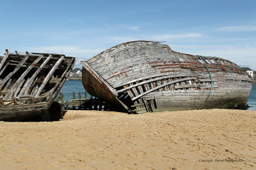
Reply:
[[0, 1], [0, 55], [64, 53], [75, 67], [127, 41], [215, 56], [256, 70], [256, 1]]

